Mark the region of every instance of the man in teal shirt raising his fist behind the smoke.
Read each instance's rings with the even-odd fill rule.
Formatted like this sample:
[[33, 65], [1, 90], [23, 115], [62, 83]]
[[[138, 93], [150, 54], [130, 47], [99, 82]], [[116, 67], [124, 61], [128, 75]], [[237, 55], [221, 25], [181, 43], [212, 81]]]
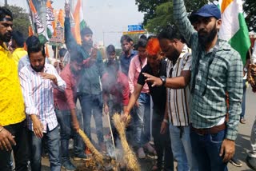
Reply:
[[66, 45], [69, 50], [78, 50], [82, 53], [83, 59], [87, 59], [90, 62], [90, 67], [82, 68], [82, 75], [80, 82], [78, 82], [78, 99], [80, 101], [83, 113], [83, 121], [86, 135], [90, 137], [90, 120], [92, 114], [94, 115], [94, 121], [96, 125], [98, 143], [105, 151], [105, 145], [103, 142], [103, 126], [102, 126], [102, 83], [101, 78], [104, 73], [104, 65], [102, 61], [102, 55], [100, 51], [93, 47], [93, 32], [89, 27], [85, 27], [80, 31], [82, 46], [79, 46], [74, 41], [70, 32], [70, 6], [65, 5], [65, 36]]

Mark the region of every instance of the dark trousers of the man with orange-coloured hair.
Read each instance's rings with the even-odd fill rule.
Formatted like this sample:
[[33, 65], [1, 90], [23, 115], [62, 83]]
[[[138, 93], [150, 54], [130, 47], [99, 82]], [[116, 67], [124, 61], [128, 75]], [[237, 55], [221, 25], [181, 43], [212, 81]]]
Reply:
[[[166, 133], [164, 134], [160, 133], [163, 117], [164, 117], [164, 111], [162, 113], [158, 113], [155, 110], [153, 111], [152, 136], [154, 137], [154, 146], [158, 155], [157, 166], [159, 170], [164, 168], [165, 171], [173, 171], [174, 157], [171, 151], [169, 129], [167, 129]], [[164, 158], [164, 167], [162, 167], [163, 158]]]

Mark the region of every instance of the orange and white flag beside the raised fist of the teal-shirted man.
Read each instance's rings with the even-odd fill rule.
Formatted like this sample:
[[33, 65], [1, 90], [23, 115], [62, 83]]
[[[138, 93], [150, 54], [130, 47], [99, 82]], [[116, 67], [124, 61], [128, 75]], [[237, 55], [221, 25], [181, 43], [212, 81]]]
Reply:
[[75, 40], [78, 44], [82, 44], [80, 30], [86, 26], [86, 22], [83, 19], [82, 13], [82, 0], [78, 0], [77, 5], [74, 8], [74, 27], [72, 28], [72, 34], [74, 35]]

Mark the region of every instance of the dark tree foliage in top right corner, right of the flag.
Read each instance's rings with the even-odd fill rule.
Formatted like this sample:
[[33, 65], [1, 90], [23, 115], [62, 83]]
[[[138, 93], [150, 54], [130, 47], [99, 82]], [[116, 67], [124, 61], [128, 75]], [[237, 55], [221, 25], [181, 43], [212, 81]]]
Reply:
[[256, 1], [245, 0], [243, 10], [246, 12], [246, 24], [248, 29], [256, 32]]

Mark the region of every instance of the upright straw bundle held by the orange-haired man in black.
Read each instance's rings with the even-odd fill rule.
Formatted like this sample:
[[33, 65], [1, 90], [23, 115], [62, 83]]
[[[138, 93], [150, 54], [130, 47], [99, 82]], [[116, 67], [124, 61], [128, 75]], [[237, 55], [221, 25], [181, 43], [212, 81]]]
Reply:
[[129, 170], [133, 171], [140, 171], [140, 166], [138, 164], [137, 157], [135, 153], [130, 149], [130, 146], [128, 145], [126, 141], [126, 123], [130, 120], [130, 117], [128, 117], [128, 121], [123, 122], [120, 121], [120, 115], [118, 113], [115, 113], [112, 117], [114, 126], [118, 130], [119, 137], [121, 140], [122, 148], [124, 150], [124, 161], [126, 162], [126, 167]]

